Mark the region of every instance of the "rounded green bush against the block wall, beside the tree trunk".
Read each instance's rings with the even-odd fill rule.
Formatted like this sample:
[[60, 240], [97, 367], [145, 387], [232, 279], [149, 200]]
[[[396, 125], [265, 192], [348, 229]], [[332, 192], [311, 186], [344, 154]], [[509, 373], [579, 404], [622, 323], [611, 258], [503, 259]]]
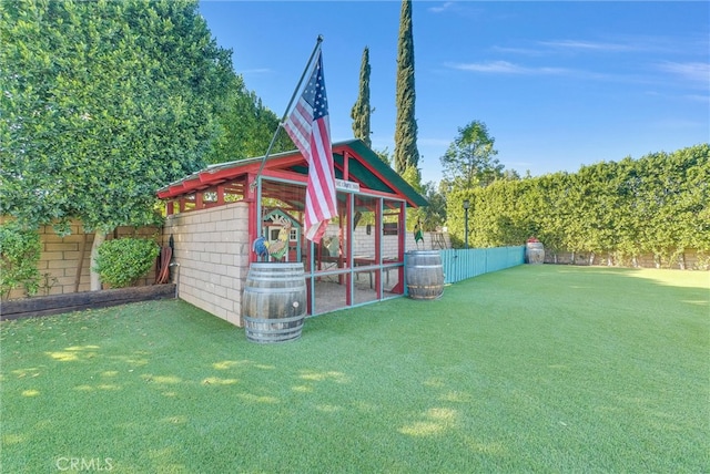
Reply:
[[129, 287], [151, 269], [159, 253], [160, 247], [153, 240], [106, 240], [99, 247], [94, 270], [111, 288]]

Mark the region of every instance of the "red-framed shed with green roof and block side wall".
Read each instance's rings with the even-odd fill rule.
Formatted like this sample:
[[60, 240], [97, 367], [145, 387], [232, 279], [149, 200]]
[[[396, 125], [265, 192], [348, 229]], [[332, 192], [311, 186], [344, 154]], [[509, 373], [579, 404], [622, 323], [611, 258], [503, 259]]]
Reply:
[[247, 158], [160, 189], [180, 297], [242, 326], [244, 280], [260, 259], [253, 243], [277, 239], [270, 224], [282, 219], [282, 260], [303, 262], [308, 316], [403, 296], [405, 210], [426, 199], [359, 140], [333, 144], [333, 157], [338, 215], [318, 245], [301, 233], [308, 167], [297, 151], [270, 156], [261, 175], [262, 157]]

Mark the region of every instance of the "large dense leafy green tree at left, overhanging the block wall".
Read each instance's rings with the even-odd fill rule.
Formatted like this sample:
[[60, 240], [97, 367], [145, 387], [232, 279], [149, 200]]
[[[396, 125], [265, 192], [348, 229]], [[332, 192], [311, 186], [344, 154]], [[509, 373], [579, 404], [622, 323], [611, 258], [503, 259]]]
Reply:
[[80, 219], [95, 257], [115, 227], [155, 221], [158, 188], [204, 165], [231, 53], [196, 0], [9, 0], [0, 19], [2, 212], [33, 227]]

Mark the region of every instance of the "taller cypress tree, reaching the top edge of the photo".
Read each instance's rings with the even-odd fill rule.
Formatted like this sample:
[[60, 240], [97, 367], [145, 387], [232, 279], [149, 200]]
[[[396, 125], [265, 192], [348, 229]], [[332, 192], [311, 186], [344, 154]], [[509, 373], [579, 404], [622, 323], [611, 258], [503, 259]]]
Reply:
[[414, 38], [412, 35], [412, 0], [402, 1], [399, 42], [397, 45], [397, 122], [395, 124], [395, 169], [404, 173], [419, 164], [417, 121], [414, 116]]

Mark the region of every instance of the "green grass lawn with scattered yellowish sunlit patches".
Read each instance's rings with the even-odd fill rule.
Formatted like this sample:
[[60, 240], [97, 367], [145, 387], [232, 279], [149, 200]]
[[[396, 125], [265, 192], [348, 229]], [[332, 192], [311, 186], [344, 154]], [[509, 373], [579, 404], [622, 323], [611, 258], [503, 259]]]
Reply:
[[3, 322], [1, 470], [708, 472], [709, 290], [521, 266], [272, 346], [181, 301]]

